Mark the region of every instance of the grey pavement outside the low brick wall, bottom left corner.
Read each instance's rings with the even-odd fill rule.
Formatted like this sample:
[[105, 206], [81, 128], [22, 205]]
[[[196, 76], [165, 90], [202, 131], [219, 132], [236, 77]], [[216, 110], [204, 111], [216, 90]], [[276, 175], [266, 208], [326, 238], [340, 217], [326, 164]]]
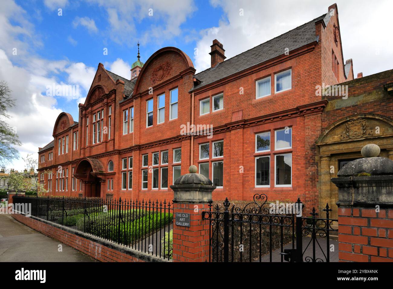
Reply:
[[[62, 252], [58, 251], [59, 244]], [[0, 262], [96, 262], [94, 258], [0, 214]]]

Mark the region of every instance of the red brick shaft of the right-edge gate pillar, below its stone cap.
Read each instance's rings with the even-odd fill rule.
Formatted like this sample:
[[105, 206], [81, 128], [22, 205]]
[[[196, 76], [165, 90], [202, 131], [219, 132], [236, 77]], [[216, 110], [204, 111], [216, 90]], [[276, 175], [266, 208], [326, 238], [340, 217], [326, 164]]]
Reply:
[[393, 262], [393, 209], [338, 208], [340, 262]]

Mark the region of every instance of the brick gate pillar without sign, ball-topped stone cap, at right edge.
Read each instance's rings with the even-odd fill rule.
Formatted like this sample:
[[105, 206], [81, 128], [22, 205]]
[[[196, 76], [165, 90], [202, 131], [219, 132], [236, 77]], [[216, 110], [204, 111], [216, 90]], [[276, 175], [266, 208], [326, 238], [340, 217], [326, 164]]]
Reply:
[[332, 178], [338, 187], [340, 261], [393, 261], [393, 161], [365, 145], [360, 158]]

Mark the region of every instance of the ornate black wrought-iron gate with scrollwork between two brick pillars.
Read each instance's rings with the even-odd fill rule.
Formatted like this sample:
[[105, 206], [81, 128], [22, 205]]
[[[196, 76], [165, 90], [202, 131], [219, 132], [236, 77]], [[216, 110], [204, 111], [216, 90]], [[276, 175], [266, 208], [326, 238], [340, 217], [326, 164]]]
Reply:
[[329, 262], [329, 235], [337, 231], [332, 228], [337, 220], [329, 219], [332, 210], [328, 204], [323, 209], [326, 218], [319, 218], [315, 208], [309, 217], [303, 217], [300, 199], [292, 206], [286, 204], [284, 209], [267, 199], [265, 194], [255, 194], [253, 202], [243, 208], [232, 205], [230, 209], [227, 198], [223, 210], [218, 204], [212, 210], [210, 204], [209, 211], [202, 212], [202, 219], [209, 220], [209, 260]]

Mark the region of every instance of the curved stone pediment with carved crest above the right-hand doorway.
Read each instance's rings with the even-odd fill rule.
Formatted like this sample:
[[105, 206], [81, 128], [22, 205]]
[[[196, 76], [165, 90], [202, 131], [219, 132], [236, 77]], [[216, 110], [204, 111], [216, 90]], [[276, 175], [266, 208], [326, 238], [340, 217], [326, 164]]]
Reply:
[[391, 118], [378, 114], [358, 114], [334, 122], [316, 144], [333, 144], [393, 135]]

